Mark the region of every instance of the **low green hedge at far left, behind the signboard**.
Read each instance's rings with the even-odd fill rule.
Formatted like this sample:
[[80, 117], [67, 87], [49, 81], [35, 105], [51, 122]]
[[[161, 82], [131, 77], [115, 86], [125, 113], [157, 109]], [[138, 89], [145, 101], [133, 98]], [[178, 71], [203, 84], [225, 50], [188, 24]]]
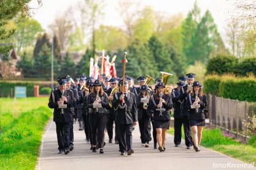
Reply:
[[26, 96], [34, 96], [34, 85], [50, 87], [50, 81], [0, 81], [0, 97], [14, 97], [15, 86], [26, 86]]

